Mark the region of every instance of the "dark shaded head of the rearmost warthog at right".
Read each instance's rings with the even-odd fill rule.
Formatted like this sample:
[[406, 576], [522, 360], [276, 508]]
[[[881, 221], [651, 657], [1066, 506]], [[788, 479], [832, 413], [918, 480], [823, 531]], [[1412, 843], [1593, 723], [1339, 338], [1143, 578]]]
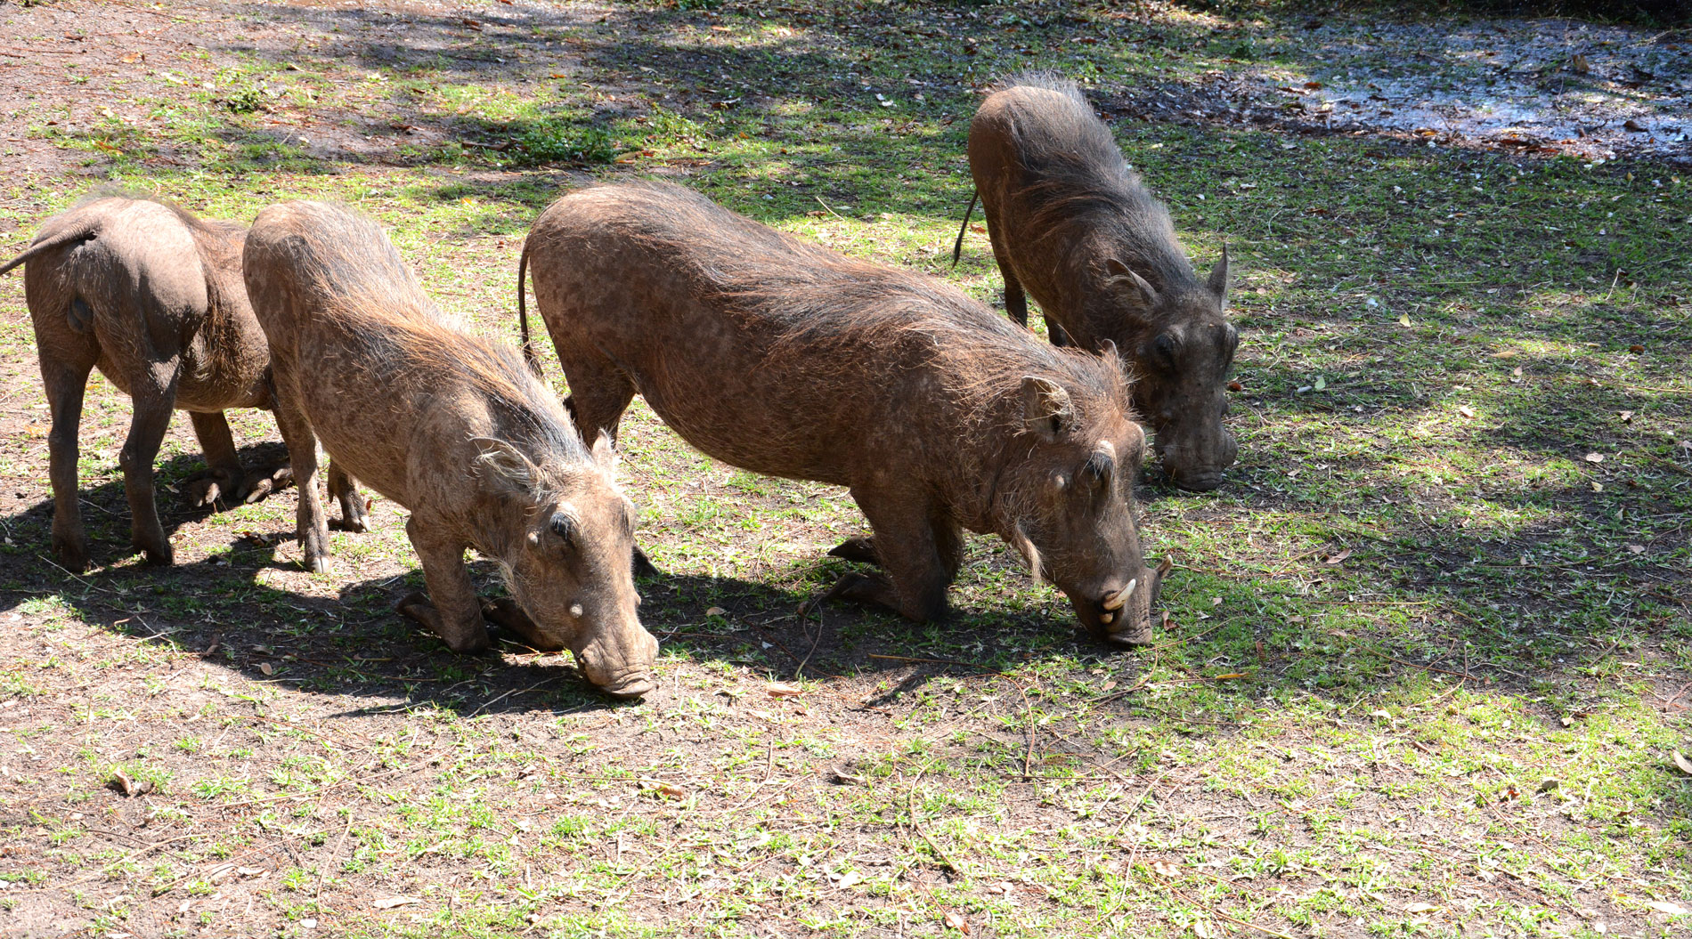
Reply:
[[1222, 425], [1228, 413], [1228, 369], [1240, 335], [1228, 323], [1228, 254], [1210, 281], [1154, 289], [1118, 261], [1107, 262], [1113, 288], [1125, 303], [1149, 310], [1154, 323], [1134, 349], [1134, 404], [1156, 435], [1162, 469], [1181, 489], [1222, 486], [1239, 447]]

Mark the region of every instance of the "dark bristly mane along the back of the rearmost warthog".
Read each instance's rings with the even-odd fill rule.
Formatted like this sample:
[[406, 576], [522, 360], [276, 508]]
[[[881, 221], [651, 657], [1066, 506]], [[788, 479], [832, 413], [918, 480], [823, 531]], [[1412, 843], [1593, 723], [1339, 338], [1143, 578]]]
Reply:
[[1159, 291], [1196, 288], [1193, 262], [1174, 247], [1179, 242], [1169, 210], [1145, 191], [1081, 88], [1051, 73], [1024, 73], [997, 81], [992, 91], [1010, 88], [1041, 88], [1066, 98], [1041, 112], [1037, 134], [1017, 129], [1017, 152], [1036, 179], [1025, 189], [1037, 205], [1030, 227], [1061, 239], [1103, 235], [1117, 257]]

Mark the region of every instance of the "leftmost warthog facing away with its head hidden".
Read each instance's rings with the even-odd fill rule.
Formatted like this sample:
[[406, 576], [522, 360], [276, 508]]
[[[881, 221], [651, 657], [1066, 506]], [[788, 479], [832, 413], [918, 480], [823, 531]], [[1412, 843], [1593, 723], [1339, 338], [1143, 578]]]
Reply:
[[78, 425], [88, 372], [100, 369], [135, 411], [118, 462], [129, 496], [130, 541], [151, 563], [174, 552], [159, 526], [152, 462], [171, 411], [195, 423], [208, 469], [190, 479], [195, 504], [254, 501], [286, 480], [242, 469], [223, 411], [271, 406], [271, 355], [240, 283], [247, 230], [203, 222], [151, 200], [103, 196], [54, 215], [24, 264], [24, 296], [36, 328], [52, 431], [52, 553], [88, 568], [88, 536], [76, 502]]

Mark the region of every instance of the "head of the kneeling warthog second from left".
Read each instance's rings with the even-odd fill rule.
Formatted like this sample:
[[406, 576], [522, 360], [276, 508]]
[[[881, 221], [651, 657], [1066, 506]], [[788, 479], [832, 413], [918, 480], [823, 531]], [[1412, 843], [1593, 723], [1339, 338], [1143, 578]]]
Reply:
[[503, 440], [481, 443], [482, 462], [508, 484], [499, 523], [513, 531], [499, 562], [518, 606], [606, 694], [651, 690], [658, 640], [636, 611], [634, 506], [613, 479], [609, 438], [599, 437], [592, 464], [557, 465]]

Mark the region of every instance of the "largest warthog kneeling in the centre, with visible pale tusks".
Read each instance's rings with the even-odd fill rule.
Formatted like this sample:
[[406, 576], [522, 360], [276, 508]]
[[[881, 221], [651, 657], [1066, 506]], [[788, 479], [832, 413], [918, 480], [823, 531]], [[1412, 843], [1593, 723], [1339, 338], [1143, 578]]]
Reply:
[[719, 460], [851, 489], [875, 538], [832, 553], [883, 572], [829, 596], [941, 618], [968, 528], [1014, 545], [1095, 634], [1149, 641], [1145, 438], [1117, 362], [672, 184], [563, 196], [535, 222], [519, 284], [530, 261], [589, 435], [616, 433], [638, 391]]

